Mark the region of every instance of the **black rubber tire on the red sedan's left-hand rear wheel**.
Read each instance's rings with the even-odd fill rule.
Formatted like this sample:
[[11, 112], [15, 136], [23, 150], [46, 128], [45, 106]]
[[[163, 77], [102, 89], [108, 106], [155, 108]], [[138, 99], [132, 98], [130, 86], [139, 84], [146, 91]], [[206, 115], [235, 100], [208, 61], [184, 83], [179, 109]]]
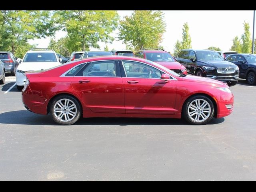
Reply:
[[[76, 106], [76, 115], [74, 116], [74, 118], [73, 118], [72, 120], [66, 121], [66, 122], [59, 120], [59, 119], [55, 116], [55, 113], [54, 113], [54, 105], [55, 105], [58, 101], [64, 100], [64, 99], [71, 100], [71, 101], [74, 103], [74, 105]], [[61, 109], [62, 109], [62, 108], [60, 108], [60, 110], [61, 110]], [[68, 111], [67, 111], [67, 112], [68, 112]], [[57, 114], [61, 114], [61, 113], [63, 114], [64, 112], [59, 112], [59, 113], [57, 113]], [[57, 115], [57, 114], [56, 114], [56, 115]], [[78, 100], [76, 100], [76, 98], [74, 98], [74, 97], [72, 97], [72, 96], [69, 96], [69, 95], [60, 95], [60, 96], [57, 96], [56, 98], [54, 98], [54, 100], [52, 100], [52, 102], [51, 102], [51, 104], [50, 104], [50, 115], [52, 116], [52, 119], [53, 119], [56, 123], [58, 123], [58, 124], [60, 124], [60, 125], [72, 125], [72, 124], [76, 123], [76, 122], [79, 120], [81, 114], [82, 114], [82, 108], [81, 108], [81, 106], [80, 106], [80, 103], [78, 102]], [[68, 116], [68, 114], [66, 114], [66, 115]], [[65, 117], [65, 116], [64, 116], [64, 117]], [[71, 117], [71, 116], [69, 116], [69, 117]], [[65, 117], [65, 119], [66, 119], [66, 117]]]

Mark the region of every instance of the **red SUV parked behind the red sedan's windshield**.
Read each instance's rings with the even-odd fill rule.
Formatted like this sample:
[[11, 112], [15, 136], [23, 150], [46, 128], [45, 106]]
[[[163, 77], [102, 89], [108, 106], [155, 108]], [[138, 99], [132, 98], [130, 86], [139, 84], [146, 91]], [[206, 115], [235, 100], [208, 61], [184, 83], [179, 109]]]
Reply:
[[144, 58], [156, 62], [176, 73], [187, 74], [186, 67], [176, 61], [176, 59], [167, 51], [160, 49], [144, 49], [136, 52], [135, 57]]

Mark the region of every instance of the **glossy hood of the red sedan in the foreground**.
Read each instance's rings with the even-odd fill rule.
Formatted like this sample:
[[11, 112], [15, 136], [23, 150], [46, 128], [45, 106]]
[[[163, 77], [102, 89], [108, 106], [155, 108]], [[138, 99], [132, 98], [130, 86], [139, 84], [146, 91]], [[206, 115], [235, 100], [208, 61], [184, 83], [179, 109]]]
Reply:
[[186, 77], [180, 77], [180, 80], [188, 81], [188, 82], [209, 84], [214, 87], [228, 87], [226, 84], [224, 84], [218, 80], [214, 80], [214, 79], [210, 79], [210, 78], [206, 78], [206, 77], [193, 76], [193, 75], [187, 75]]

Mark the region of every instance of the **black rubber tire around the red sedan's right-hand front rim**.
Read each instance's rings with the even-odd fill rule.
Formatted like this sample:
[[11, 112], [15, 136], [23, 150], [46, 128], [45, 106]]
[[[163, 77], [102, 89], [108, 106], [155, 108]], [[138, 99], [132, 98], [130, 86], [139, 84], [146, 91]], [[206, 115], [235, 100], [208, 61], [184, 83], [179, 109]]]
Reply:
[[[206, 102], [208, 102], [209, 106], [210, 106], [210, 112], [207, 114], [207, 118], [206, 120], [204, 121], [201, 121], [201, 122], [196, 122], [194, 120], [192, 120], [193, 116], [190, 118], [189, 117], [189, 106], [190, 104], [193, 102], [194, 103], [194, 100], [197, 100], [197, 99], [200, 99], [201, 101], [205, 100]], [[202, 104], [202, 103], [200, 103]], [[200, 107], [199, 107], [200, 108]], [[195, 109], [196, 110], [196, 109]], [[200, 109], [198, 109], [200, 110]], [[202, 109], [201, 109], [202, 110]], [[188, 98], [188, 100], [186, 100], [186, 102], [183, 104], [183, 107], [182, 107], [182, 117], [187, 121], [189, 122], [190, 124], [194, 124], [194, 125], [204, 125], [204, 124], [207, 124], [208, 122], [210, 122], [210, 120], [212, 120], [213, 116], [214, 116], [214, 104], [212, 103], [212, 101], [207, 97], [207, 96], [204, 96], [204, 95], [195, 95], [195, 96], [192, 96], [190, 98]], [[198, 115], [197, 114], [197, 110], [196, 110], [196, 114], [195, 115]], [[199, 118], [202, 119], [202, 115], [198, 115]], [[201, 117], [200, 117], [201, 116]], [[197, 116], [196, 116], [197, 117]]]

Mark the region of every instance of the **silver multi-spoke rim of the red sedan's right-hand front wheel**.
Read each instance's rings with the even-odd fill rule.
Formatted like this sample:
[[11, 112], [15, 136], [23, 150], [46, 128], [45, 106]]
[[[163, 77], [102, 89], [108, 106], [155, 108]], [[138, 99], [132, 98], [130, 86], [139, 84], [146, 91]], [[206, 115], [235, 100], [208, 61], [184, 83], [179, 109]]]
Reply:
[[195, 99], [188, 106], [188, 117], [194, 122], [204, 122], [210, 114], [210, 104], [204, 99]]

